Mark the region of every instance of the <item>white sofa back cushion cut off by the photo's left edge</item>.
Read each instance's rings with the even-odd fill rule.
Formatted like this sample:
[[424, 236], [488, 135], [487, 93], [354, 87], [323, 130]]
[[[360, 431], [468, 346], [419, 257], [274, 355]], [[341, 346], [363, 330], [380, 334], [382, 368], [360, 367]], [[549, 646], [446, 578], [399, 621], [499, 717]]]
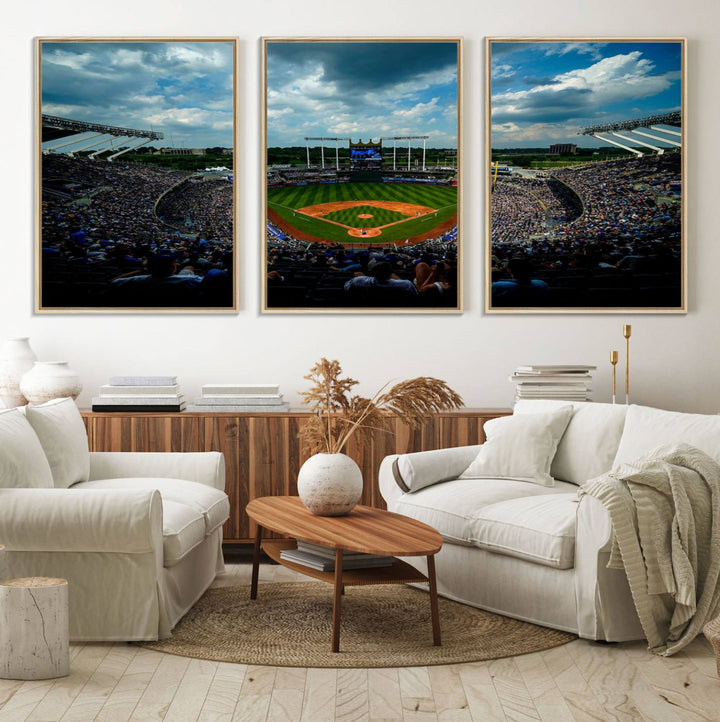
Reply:
[[0, 411], [0, 487], [52, 485], [50, 464], [30, 422], [17, 409]]

